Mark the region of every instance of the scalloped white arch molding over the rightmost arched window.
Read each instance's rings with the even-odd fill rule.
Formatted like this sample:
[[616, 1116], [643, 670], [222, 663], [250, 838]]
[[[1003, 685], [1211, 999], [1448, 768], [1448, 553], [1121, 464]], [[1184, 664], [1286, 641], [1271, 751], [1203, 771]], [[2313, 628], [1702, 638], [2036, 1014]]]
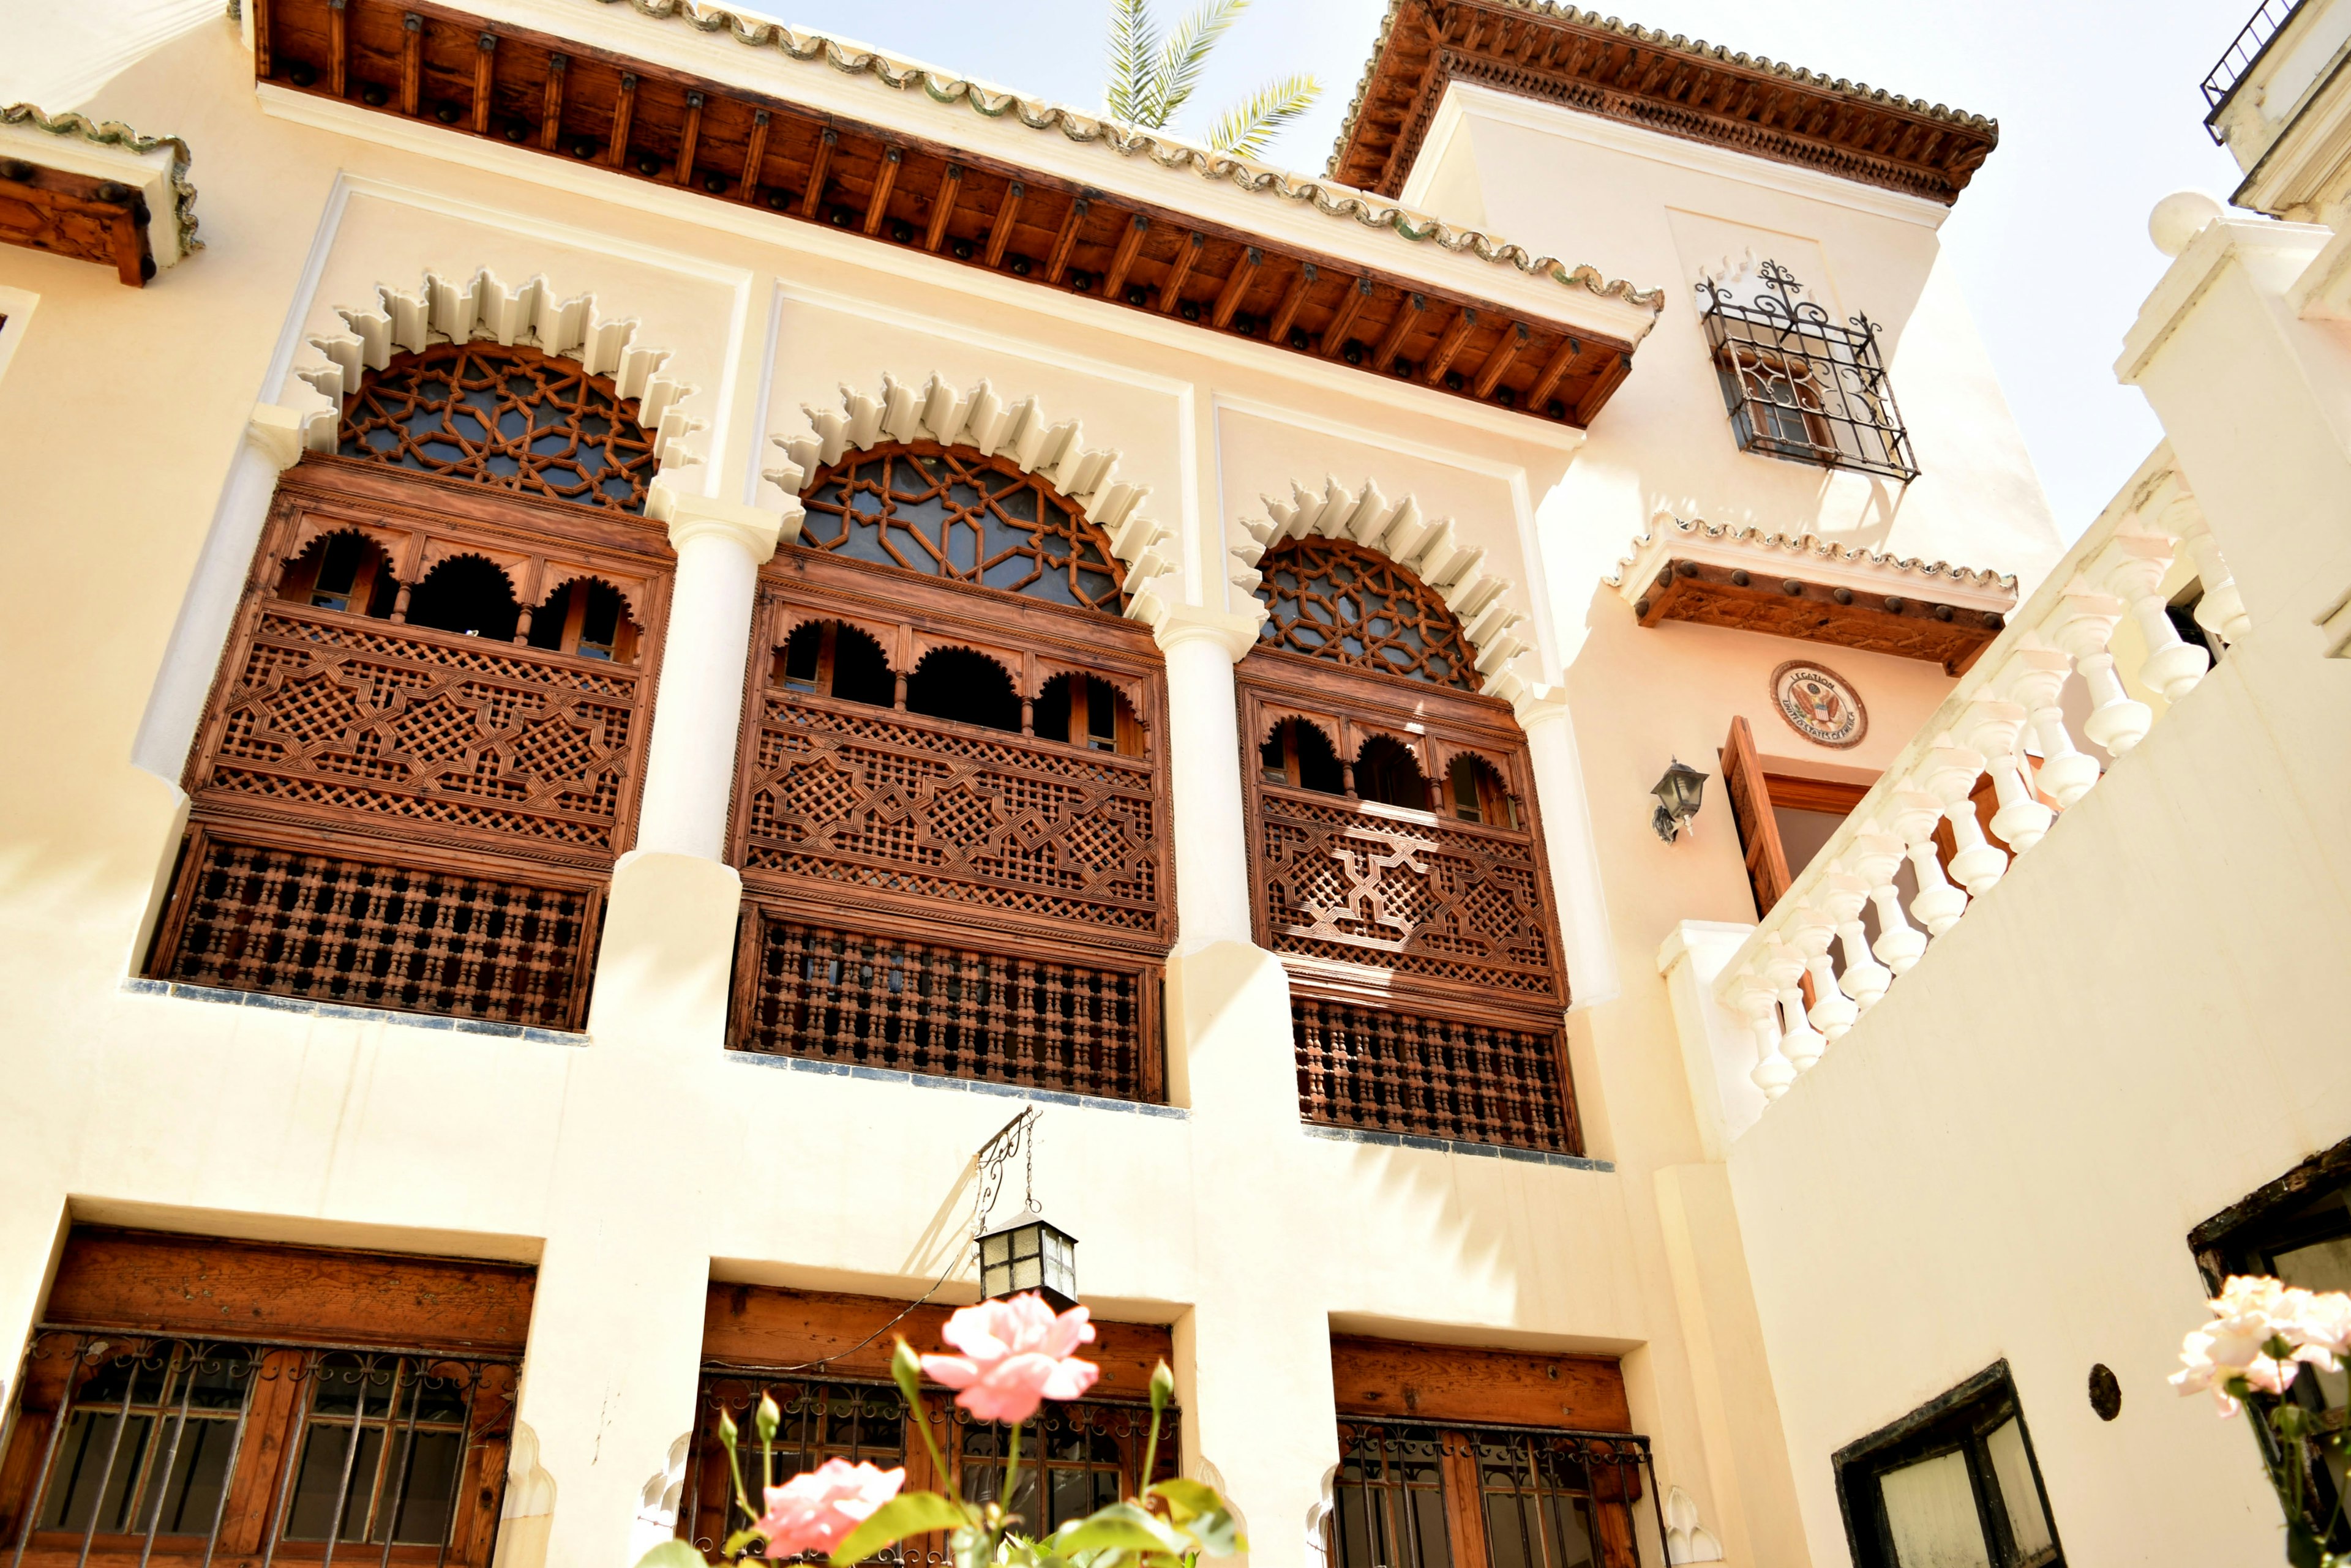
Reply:
[[1251, 595], [1251, 609], [1265, 621], [1265, 602], [1255, 597], [1258, 562], [1274, 545], [1291, 538], [1345, 538], [1378, 550], [1387, 559], [1408, 569], [1436, 590], [1446, 609], [1462, 623], [1462, 635], [1476, 651], [1476, 672], [1486, 677], [1486, 691], [1516, 705], [1533, 686], [1512, 670], [1512, 661], [1528, 651], [1519, 635], [1526, 616], [1509, 607], [1512, 581], [1486, 571], [1483, 545], [1469, 545], [1451, 517], [1425, 517], [1413, 496], [1389, 501], [1378, 482], [1366, 480], [1361, 491], [1349, 491], [1335, 477], [1326, 477], [1319, 491], [1291, 480], [1291, 498], [1265, 503], [1265, 517], [1241, 517], [1246, 538], [1232, 545], [1232, 585]]

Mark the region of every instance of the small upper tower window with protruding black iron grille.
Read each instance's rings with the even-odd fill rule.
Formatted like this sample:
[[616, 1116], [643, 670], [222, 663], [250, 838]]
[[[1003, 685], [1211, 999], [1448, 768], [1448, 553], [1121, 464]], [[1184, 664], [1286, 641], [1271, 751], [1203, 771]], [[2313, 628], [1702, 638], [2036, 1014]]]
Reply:
[[1756, 280], [1749, 301], [1719, 282], [1697, 284], [1714, 378], [1740, 451], [1916, 480], [1918, 463], [1878, 355], [1878, 324], [1867, 315], [1838, 324], [1803, 299], [1803, 284], [1777, 261], [1756, 268]]

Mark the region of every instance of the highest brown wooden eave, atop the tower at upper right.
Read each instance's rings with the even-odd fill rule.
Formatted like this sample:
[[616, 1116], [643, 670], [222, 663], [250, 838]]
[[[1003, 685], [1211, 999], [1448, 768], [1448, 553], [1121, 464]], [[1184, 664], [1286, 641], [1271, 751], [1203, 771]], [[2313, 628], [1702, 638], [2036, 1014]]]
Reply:
[[1396, 195], [1448, 82], [1474, 82], [1942, 205], [1998, 143], [1991, 120], [1519, 0], [1396, 0], [1331, 176]]

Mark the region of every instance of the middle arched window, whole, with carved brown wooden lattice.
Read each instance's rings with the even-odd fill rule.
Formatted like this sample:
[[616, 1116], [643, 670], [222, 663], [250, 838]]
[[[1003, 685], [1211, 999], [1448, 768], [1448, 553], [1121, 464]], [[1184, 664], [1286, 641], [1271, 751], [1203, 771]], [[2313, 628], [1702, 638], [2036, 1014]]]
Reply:
[[853, 451], [762, 571], [738, 1051], [1157, 1100], [1166, 682], [1084, 510], [1009, 458]]

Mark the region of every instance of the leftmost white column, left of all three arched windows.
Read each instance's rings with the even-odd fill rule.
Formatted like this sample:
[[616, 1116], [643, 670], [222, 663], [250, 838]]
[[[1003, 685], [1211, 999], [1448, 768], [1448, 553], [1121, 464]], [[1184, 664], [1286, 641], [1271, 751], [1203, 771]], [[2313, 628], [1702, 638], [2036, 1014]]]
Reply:
[[205, 550], [195, 557], [188, 597], [179, 602], [162, 670], [155, 672], [139, 736], [132, 741], [132, 762], [174, 788], [188, 766], [212, 672], [221, 663], [228, 625], [237, 618], [237, 599], [245, 597], [245, 576], [261, 545], [261, 524], [270, 515], [277, 475], [301, 458], [301, 418], [294, 409], [256, 402], [237, 440], [237, 456], [228, 465], [228, 482], [221, 484], [221, 498], [212, 505]]

